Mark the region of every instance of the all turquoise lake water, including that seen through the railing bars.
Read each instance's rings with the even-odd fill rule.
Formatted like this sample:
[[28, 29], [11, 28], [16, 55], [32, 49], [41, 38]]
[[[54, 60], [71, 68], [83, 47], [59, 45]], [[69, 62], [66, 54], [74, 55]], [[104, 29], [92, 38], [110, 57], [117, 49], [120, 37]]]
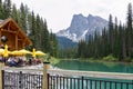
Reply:
[[[81, 70], [81, 71], [103, 71], [103, 72], [120, 72], [120, 73], [133, 73], [133, 65], [129, 63], [114, 63], [114, 62], [96, 62], [96, 61], [79, 61], [79, 60], [61, 60], [55, 67], [65, 70]], [[93, 81], [91, 89], [133, 89], [133, 80], [117, 80], [117, 79], [105, 79], [105, 78], [90, 78], [96, 80], [109, 80], [116, 82], [131, 82], [132, 85], [126, 86], [125, 83], [108, 83]], [[99, 85], [98, 85], [99, 83]], [[90, 86], [90, 85], [88, 85]], [[98, 88], [95, 88], [98, 86]], [[112, 87], [112, 88], [111, 88]], [[82, 88], [80, 88], [82, 89]], [[85, 88], [86, 89], [86, 88]], [[90, 88], [89, 88], [90, 89]]]

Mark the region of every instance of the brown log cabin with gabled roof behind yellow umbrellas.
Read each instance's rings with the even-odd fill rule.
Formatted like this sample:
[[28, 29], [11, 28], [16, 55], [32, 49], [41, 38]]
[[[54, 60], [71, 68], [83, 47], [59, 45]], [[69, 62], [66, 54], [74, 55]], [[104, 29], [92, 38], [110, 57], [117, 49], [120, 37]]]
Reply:
[[32, 42], [12, 19], [0, 20], [0, 48], [8, 44], [10, 51], [23, 49]]

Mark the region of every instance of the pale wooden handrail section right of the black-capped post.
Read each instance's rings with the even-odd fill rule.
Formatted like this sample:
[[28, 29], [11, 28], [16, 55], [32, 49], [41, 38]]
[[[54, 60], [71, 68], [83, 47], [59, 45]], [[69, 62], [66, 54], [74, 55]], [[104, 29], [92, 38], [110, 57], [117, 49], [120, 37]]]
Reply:
[[48, 73], [55, 73], [62, 76], [85, 76], [93, 78], [111, 78], [133, 80], [133, 73], [117, 73], [117, 72], [100, 72], [100, 71], [75, 71], [75, 70], [48, 70]]

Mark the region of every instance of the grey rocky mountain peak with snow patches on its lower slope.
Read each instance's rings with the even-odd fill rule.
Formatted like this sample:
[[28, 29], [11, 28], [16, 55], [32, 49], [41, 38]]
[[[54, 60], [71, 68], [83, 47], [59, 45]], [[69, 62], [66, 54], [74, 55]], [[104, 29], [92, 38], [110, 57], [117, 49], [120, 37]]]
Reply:
[[84, 17], [82, 14], [74, 14], [69, 28], [60, 30], [57, 32], [58, 37], [65, 37], [74, 42], [89, 37], [89, 34], [94, 34], [94, 31], [102, 32], [103, 28], [108, 28], [108, 21], [89, 14]]

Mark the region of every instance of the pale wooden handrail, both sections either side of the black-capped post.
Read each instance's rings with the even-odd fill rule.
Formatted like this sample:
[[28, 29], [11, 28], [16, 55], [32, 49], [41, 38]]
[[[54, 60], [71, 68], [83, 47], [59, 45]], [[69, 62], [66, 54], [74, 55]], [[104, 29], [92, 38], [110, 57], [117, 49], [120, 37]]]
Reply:
[[[10, 71], [24, 71], [24, 72], [41, 72], [43, 69], [31, 69], [31, 68], [7, 68], [3, 70]], [[47, 71], [50, 75], [61, 75], [61, 76], [85, 76], [93, 78], [111, 78], [111, 79], [124, 79], [133, 80], [133, 73], [119, 73], [119, 72], [100, 72], [100, 71], [76, 71], [76, 70], [62, 70], [62, 69], [49, 69]]]

